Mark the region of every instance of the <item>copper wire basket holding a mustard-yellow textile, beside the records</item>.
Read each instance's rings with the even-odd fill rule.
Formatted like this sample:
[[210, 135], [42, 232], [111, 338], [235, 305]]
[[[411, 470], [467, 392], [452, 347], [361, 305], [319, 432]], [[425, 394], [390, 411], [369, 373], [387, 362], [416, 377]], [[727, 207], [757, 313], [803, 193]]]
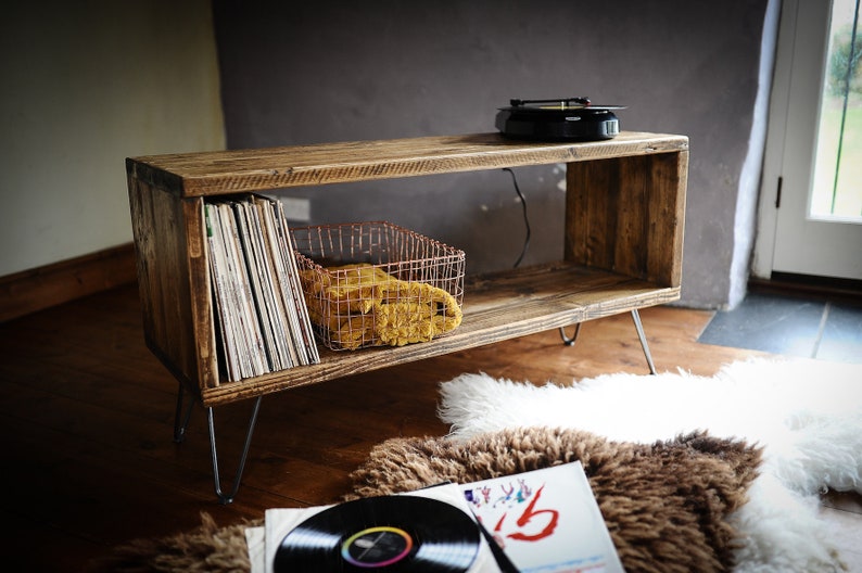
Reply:
[[291, 237], [328, 348], [403, 346], [460, 324], [464, 251], [385, 221], [297, 227]]

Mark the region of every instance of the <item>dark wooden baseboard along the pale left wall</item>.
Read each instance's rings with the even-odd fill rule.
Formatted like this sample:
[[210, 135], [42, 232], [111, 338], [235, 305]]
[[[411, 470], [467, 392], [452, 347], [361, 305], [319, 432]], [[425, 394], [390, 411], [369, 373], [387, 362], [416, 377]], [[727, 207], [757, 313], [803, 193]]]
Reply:
[[131, 243], [0, 277], [0, 322], [137, 280]]

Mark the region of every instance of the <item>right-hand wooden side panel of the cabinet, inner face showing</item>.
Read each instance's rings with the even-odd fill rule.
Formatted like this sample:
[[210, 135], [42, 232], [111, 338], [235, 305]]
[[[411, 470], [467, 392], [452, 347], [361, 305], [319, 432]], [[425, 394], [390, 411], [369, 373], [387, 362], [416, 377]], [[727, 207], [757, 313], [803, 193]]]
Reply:
[[687, 155], [570, 163], [566, 259], [679, 286]]

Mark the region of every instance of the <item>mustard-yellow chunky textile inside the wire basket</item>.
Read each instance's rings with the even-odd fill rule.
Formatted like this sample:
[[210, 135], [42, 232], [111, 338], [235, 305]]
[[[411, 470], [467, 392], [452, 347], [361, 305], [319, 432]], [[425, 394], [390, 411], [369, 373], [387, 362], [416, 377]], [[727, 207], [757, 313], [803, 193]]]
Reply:
[[430, 341], [461, 323], [461, 309], [443, 289], [403, 281], [371, 265], [305, 270], [308, 314], [341, 348], [403, 346]]

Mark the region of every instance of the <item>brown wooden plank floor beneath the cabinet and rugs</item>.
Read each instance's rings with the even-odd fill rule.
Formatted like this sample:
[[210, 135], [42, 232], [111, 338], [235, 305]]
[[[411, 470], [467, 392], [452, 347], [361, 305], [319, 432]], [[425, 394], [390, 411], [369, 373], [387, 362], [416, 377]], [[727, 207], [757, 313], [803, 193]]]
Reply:
[[[642, 318], [659, 370], [711, 374], [759, 354], [697, 343], [711, 313], [657, 307]], [[143, 344], [135, 288], [0, 324], [4, 569], [80, 571], [115, 544], [192, 529], [202, 511], [227, 525], [268, 507], [335, 501], [375, 444], [444, 434], [436, 384], [480, 370], [535, 382], [647, 373], [626, 314], [585, 323], [573, 348], [552, 331], [267, 396], [242, 487], [223, 506], [204, 410], [193, 411], [185, 443], [172, 441], [177, 385]], [[227, 485], [251, 405], [215, 409]], [[834, 523], [852, 545], [862, 506], [833, 501], [849, 509], [834, 511]]]

